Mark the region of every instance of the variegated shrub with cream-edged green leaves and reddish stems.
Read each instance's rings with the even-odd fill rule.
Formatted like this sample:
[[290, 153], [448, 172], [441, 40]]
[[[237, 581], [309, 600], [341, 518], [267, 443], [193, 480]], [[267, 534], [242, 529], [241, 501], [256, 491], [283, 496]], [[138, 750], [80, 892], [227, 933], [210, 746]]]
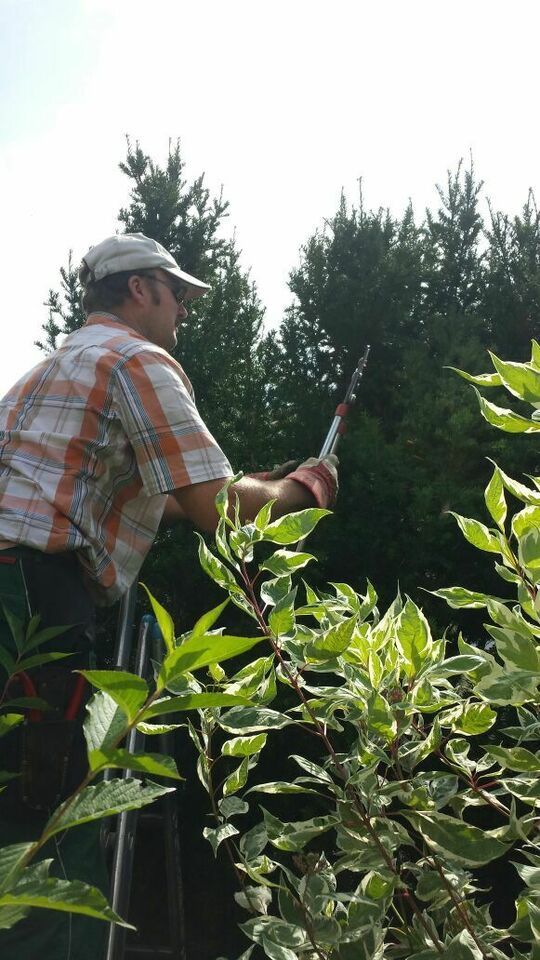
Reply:
[[[492, 359], [494, 374], [462, 376], [533, 411], [478, 394], [482, 415], [538, 432], [540, 347], [527, 364]], [[531, 482], [494, 465], [490, 526], [455, 515], [465, 539], [494, 555], [501, 593], [514, 594], [434, 591], [486, 613], [487, 643], [460, 636], [457, 650], [410, 598], [398, 594], [381, 616], [370, 583], [364, 595], [340, 582], [295, 586], [313, 557], [290, 548], [316, 511], [271, 522], [265, 509], [241, 526], [218, 504], [216, 551], [202, 547], [201, 563], [268, 646], [230, 675], [211, 669], [209, 690], [251, 703], [199, 711], [190, 734], [214, 813], [205, 835], [216, 853], [227, 848], [242, 930], [271, 960], [536, 956], [540, 479]], [[278, 549], [255, 559], [268, 543]], [[281, 776], [261, 780], [264, 758], [279, 770], [283, 749]], [[500, 858], [521, 887], [504, 927], [486, 890]]]

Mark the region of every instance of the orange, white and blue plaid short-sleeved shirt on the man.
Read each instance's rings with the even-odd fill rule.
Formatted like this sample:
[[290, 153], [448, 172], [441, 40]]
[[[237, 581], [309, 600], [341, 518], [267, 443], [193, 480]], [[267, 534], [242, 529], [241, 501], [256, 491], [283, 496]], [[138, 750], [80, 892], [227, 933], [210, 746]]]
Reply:
[[111, 603], [137, 576], [165, 494], [231, 474], [180, 365], [94, 313], [0, 401], [0, 548], [76, 550]]

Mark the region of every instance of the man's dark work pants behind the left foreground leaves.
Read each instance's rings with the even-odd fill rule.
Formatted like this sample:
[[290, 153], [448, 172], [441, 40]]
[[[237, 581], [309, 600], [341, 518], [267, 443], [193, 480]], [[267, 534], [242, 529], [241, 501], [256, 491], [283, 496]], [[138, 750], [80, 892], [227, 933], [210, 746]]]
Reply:
[[[0, 846], [4, 846], [39, 837], [51, 811], [69, 796], [87, 769], [84, 708], [81, 706], [74, 720], [65, 720], [65, 712], [75, 688], [77, 674], [73, 671], [89, 665], [94, 605], [73, 554], [43, 554], [24, 547], [0, 552], [0, 603], [26, 622], [31, 614], [39, 613], [38, 629], [69, 624], [65, 633], [48, 641], [39, 652], [73, 653], [29, 672], [38, 695], [52, 709], [38, 718], [27, 718], [0, 740], [0, 769], [25, 771], [0, 795]], [[13, 653], [13, 639], [1, 610], [0, 644]], [[8, 699], [26, 692], [16, 681]], [[107, 892], [99, 822], [53, 838], [39, 854], [40, 860], [49, 857], [55, 861], [52, 875], [83, 880]], [[0, 930], [0, 957], [100, 960], [106, 932], [107, 925], [98, 920], [35, 908], [11, 929]]]

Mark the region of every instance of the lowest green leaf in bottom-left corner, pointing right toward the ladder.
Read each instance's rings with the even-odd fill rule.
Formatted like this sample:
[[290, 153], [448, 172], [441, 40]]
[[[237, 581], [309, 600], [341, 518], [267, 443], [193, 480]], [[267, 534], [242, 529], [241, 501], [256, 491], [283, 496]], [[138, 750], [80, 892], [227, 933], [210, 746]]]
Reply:
[[80, 880], [58, 880], [48, 877], [46, 880], [20, 882], [9, 893], [0, 896], [0, 907], [43, 907], [47, 910], [60, 910], [67, 913], [80, 913], [107, 923], [119, 923], [130, 930], [135, 928], [126, 923], [111, 909], [105, 897], [96, 887], [90, 887]]

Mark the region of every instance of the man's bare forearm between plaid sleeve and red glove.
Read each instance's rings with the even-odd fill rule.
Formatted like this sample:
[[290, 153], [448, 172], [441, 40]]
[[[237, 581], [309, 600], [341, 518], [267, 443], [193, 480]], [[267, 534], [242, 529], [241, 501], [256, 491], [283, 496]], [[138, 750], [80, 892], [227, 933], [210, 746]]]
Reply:
[[[205, 483], [195, 483], [175, 490], [168, 498], [164, 514], [165, 522], [173, 522], [174, 519], [183, 517], [191, 520], [201, 530], [212, 533], [218, 521], [214, 501], [225, 482], [226, 478], [223, 477], [220, 480], [208, 480]], [[231, 513], [235, 494], [238, 495], [240, 516], [244, 523], [253, 520], [269, 500], [277, 501], [272, 510], [274, 519], [293, 510], [304, 510], [316, 504], [315, 497], [305, 486], [287, 477], [282, 480], [242, 477], [229, 489]], [[169, 501], [172, 501], [172, 504]], [[174, 515], [175, 509], [178, 511], [176, 515]]]

